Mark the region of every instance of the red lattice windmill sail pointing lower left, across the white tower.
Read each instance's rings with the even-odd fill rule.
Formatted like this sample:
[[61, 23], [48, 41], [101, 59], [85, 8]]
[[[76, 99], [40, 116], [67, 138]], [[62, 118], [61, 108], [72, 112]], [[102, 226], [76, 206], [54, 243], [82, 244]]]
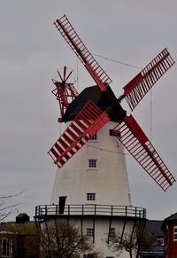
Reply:
[[48, 153], [54, 163], [61, 168], [109, 120], [108, 114], [89, 100], [58, 138], [58, 141], [50, 148]]

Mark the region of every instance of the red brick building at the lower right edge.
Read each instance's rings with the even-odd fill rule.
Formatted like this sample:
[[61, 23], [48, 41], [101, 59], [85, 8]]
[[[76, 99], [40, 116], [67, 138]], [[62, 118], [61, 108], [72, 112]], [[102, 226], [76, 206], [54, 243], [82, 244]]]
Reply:
[[165, 258], [177, 257], [177, 213], [165, 218], [162, 224], [165, 236]]

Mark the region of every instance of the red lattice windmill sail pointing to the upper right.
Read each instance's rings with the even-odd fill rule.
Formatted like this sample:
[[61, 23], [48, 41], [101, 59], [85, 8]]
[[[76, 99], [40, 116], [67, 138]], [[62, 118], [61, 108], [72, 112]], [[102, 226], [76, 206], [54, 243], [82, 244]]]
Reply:
[[137, 106], [151, 87], [158, 82], [158, 79], [173, 66], [174, 61], [167, 49], [161, 51], [148, 66], [128, 82], [124, 89], [124, 98], [131, 110]]

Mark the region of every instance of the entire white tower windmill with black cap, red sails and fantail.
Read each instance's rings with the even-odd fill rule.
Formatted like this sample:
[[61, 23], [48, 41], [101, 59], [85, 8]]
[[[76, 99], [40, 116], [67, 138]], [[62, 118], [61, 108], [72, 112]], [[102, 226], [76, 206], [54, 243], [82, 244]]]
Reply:
[[[96, 82], [78, 95], [72, 83], [66, 82], [70, 74], [59, 74], [61, 82], [53, 81], [61, 118], [65, 130], [50, 148], [50, 156], [58, 165], [52, 192], [51, 206], [36, 207], [35, 217], [40, 222], [53, 215], [69, 218], [81, 228], [102, 250], [103, 257], [113, 257], [107, 241], [119, 229], [123, 238], [127, 231], [132, 236], [135, 224], [139, 234], [145, 222], [145, 209], [132, 207], [127, 180], [123, 145], [135, 160], [165, 191], [175, 179], [166, 168], [158, 152], [132, 115], [120, 106], [126, 98], [131, 110], [150, 88], [173, 66], [173, 59], [165, 49], [142, 72], [123, 88], [124, 94], [116, 98], [110, 83], [96, 59], [82, 43], [64, 15], [55, 26], [71, 46]], [[69, 101], [71, 100], [71, 101]], [[80, 152], [78, 152], [81, 149]], [[125, 254], [122, 254], [122, 257]]]

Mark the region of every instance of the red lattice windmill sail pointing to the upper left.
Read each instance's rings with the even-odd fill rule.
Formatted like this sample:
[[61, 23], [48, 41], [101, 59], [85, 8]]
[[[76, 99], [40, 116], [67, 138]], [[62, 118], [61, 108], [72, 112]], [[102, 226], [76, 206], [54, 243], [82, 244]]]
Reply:
[[58, 31], [65, 38], [66, 43], [70, 45], [72, 50], [81, 60], [82, 64], [89, 71], [89, 74], [92, 76], [96, 84], [101, 90], [106, 91], [106, 86], [110, 84], [112, 80], [104, 72], [104, 69], [97, 63], [96, 59], [81, 41], [81, 38], [76, 33], [67, 17], [64, 15], [60, 19], [56, 20], [54, 25], [58, 28]]

